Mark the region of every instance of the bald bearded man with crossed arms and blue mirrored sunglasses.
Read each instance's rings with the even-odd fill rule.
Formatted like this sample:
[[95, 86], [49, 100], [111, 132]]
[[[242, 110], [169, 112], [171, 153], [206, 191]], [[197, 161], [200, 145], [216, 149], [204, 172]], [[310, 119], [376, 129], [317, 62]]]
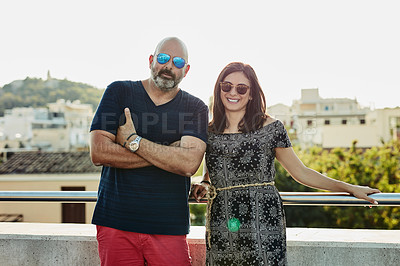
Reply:
[[208, 109], [178, 86], [188, 52], [175, 37], [149, 57], [150, 78], [111, 83], [90, 131], [102, 165], [92, 223], [102, 265], [190, 265], [190, 177], [207, 141]]

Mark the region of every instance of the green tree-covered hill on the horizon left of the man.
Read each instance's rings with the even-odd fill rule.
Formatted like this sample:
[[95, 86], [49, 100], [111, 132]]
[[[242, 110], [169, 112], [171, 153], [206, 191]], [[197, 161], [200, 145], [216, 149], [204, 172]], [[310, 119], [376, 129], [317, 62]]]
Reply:
[[6, 109], [46, 107], [47, 103], [56, 102], [58, 99], [80, 100], [81, 103], [92, 104], [95, 110], [103, 92], [104, 89], [67, 79], [49, 77], [43, 80], [27, 77], [0, 87], [0, 116], [4, 116]]

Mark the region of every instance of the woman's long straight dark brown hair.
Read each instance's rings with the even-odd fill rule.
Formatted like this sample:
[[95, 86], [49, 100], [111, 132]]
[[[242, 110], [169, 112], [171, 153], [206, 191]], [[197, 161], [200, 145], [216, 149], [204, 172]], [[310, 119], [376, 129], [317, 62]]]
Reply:
[[246, 106], [246, 113], [239, 122], [240, 132], [251, 132], [261, 128], [267, 120], [267, 107], [265, 95], [261, 89], [260, 83], [254, 69], [241, 62], [228, 64], [219, 74], [214, 87], [214, 103], [212, 107], [212, 120], [208, 125], [208, 130], [214, 133], [223, 133], [228, 127], [225, 115], [225, 107], [221, 101], [220, 82], [224, 81], [226, 76], [234, 72], [242, 72], [250, 81], [250, 97]]

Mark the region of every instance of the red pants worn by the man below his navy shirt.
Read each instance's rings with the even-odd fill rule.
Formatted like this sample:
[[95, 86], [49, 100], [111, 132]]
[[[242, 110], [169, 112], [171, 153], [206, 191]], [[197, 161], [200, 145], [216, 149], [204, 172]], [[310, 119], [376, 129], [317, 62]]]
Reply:
[[150, 235], [96, 226], [102, 266], [191, 265], [186, 235]]

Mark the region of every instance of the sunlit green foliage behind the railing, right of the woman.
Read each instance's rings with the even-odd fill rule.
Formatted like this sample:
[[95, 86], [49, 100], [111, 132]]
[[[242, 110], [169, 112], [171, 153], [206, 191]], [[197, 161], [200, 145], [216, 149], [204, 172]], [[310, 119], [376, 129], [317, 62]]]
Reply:
[[[400, 192], [400, 143], [390, 142], [370, 149], [358, 149], [356, 144], [355, 141], [350, 149], [311, 148], [296, 152], [305, 165], [331, 178], [375, 187], [382, 192]], [[290, 176], [277, 164], [280, 191], [309, 191], [287, 179], [291, 179]], [[286, 206], [285, 209], [288, 226], [392, 229], [398, 227], [400, 221], [398, 207]]]

